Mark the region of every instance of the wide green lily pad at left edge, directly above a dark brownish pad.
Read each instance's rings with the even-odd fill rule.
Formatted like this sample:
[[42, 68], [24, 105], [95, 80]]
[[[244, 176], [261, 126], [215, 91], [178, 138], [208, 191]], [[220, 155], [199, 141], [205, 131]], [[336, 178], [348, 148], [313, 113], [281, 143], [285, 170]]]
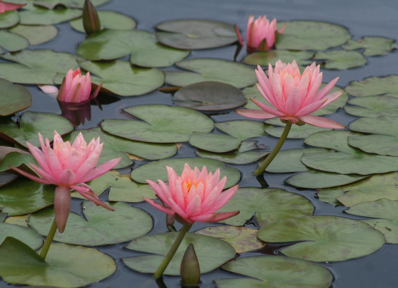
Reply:
[[79, 67], [76, 55], [51, 50], [23, 50], [1, 57], [18, 63], [0, 63], [0, 77], [13, 83], [54, 85], [58, 74], [64, 77]]

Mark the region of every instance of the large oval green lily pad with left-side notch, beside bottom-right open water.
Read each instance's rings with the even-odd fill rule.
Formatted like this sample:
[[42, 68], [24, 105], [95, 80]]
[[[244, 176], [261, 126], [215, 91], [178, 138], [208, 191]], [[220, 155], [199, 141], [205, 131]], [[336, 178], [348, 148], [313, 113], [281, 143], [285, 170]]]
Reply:
[[261, 228], [257, 237], [266, 242], [302, 241], [280, 252], [314, 262], [358, 258], [379, 250], [385, 243], [383, 234], [370, 225], [336, 216], [283, 219]]

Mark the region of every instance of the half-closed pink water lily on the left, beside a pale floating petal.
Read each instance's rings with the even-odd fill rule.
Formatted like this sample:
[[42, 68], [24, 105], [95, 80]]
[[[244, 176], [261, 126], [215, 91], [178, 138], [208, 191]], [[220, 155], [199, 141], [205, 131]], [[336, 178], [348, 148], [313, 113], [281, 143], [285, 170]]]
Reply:
[[62, 81], [57, 99], [59, 101], [74, 103], [90, 101], [97, 97], [101, 86], [102, 84], [100, 84], [92, 94], [90, 72], [82, 76], [80, 68], [76, 71], [73, 71], [72, 68]]

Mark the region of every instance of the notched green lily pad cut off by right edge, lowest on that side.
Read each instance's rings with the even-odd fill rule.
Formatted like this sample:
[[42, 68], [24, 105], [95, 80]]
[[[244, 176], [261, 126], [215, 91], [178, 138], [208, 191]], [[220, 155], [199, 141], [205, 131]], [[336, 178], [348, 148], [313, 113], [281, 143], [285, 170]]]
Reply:
[[398, 201], [379, 199], [355, 204], [346, 212], [364, 217], [378, 218], [362, 221], [382, 232], [387, 243], [398, 244], [397, 208]]

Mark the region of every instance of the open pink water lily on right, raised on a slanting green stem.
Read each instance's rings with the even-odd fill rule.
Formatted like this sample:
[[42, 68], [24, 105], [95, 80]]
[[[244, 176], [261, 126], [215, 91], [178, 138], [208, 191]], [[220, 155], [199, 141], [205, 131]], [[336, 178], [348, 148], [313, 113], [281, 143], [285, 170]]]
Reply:
[[285, 64], [278, 60], [274, 70], [269, 64], [269, 78], [260, 66], [257, 67], [256, 75], [258, 91], [276, 109], [250, 98], [262, 110], [237, 109], [235, 111], [238, 114], [256, 119], [279, 117], [284, 123], [299, 125], [308, 123], [323, 128], [345, 128], [336, 121], [310, 115], [343, 94], [343, 91], [328, 94], [337, 83], [338, 77], [319, 90], [322, 72], [319, 73], [319, 65], [316, 66], [315, 62], [307, 66], [301, 75], [296, 61]]

